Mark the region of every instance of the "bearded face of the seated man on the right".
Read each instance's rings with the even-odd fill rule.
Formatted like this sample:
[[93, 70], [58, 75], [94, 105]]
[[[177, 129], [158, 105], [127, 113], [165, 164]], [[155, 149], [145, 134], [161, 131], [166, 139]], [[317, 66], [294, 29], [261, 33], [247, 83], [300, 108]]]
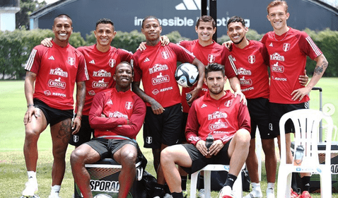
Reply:
[[210, 93], [217, 95], [223, 91], [226, 78], [221, 71], [210, 71], [204, 78], [204, 83], [208, 86]]

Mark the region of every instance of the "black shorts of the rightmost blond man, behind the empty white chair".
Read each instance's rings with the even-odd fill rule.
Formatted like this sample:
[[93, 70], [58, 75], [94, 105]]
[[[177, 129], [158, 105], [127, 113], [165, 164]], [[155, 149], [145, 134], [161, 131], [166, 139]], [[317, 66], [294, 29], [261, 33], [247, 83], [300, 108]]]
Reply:
[[[301, 110], [308, 109], [308, 102], [299, 103], [299, 104], [279, 104], [279, 103], [270, 103], [270, 117], [271, 124], [269, 128], [272, 129], [276, 136], [279, 136], [279, 120], [281, 117], [287, 112], [291, 112], [293, 110]], [[294, 133], [295, 127], [293, 126], [293, 122], [291, 120], [287, 120], [285, 123], [285, 133]]]

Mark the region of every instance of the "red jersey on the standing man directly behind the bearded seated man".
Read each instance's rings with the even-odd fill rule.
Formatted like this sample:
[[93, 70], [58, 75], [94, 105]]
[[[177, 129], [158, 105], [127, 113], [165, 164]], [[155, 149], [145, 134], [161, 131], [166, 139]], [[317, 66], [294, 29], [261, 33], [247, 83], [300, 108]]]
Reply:
[[[217, 42], [213, 41], [211, 45], [202, 46], [199, 44], [199, 40], [183, 40], [178, 45], [185, 47], [194, 54], [194, 56], [199, 59], [205, 66], [209, 63], [216, 62], [218, 64], [224, 65], [225, 74], [228, 78], [233, 78], [237, 75], [235, 64], [228, 48], [219, 45]], [[183, 112], [189, 112], [190, 106], [187, 103], [185, 98], [186, 93], [192, 91], [196, 86], [192, 88], [182, 88], [182, 97], [181, 103], [183, 107]], [[199, 92], [198, 98], [203, 96], [208, 92], [208, 86], [203, 83], [202, 91]]]

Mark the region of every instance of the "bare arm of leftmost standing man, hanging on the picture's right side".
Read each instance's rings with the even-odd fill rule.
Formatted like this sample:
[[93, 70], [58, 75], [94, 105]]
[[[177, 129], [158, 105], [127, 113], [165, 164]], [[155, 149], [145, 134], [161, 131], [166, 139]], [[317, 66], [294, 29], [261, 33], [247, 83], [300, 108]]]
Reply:
[[85, 98], [86, 83], [85, 81], [80, 81], [76, 83], [76, 103], [78, 105], [78, 110], [76, 111], [76, 117], [74, 118], [73, 125], [71, 126], [71, 129], [75, 129], [73, 134], [76, 134], [81, 127], [81, 117]]

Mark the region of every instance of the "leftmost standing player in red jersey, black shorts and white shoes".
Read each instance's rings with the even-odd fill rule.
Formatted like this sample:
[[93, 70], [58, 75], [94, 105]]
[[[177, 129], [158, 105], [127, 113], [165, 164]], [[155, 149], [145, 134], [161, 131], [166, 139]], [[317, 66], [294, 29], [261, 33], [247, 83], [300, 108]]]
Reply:
[[[25, 144], [23, 153], [28, 170], [28, 182], [23, 196], [32, 197], [37, 191], [36, 165], [37, 140], [50, 124], [52, 135], [52, 190], [49, 198], [59, 197], [66, 168], [65, 155], [68, 141], [81, 127], [81, 115], [86, 96], [85, 81], [88, 80], [86, 62], [81, 52], [69, 45], [73, 32], [69, 16], [62, 14], [54, 18], [52, 26], [53, 47], [37, 45], [32, 50], [25, 66], [25, 98], [28, 110], [25, 112]], [[77, 110], [74, 122], [73, 93], [76, 83]]]

